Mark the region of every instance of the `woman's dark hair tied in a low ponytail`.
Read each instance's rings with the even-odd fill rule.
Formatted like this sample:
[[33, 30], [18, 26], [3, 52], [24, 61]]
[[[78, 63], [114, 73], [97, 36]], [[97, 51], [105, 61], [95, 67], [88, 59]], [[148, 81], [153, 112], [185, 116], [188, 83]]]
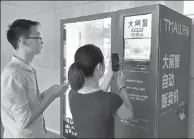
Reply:
[[95, 67], [104, 63], [104, 56], [100, 48], [93, 44], [80, 47], [74, 57], [74, 63], [68, 71], [68, 80], [74, 90], [79, 90], [85, 83], [85, 77], [91, 77]]

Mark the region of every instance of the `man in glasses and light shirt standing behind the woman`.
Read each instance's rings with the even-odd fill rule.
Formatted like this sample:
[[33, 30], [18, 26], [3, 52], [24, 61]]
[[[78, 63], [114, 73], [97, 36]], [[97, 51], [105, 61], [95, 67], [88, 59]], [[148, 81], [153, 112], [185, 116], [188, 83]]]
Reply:
[[45, 138], [45, 109], [64, 94], [68, 85], [53, 85], [39, 93], [36, 71], [31, 66], [43, 41], [40, 23], [18, 19], [7, 31], [7, 39], [16, 50], [1, 74], [1, 118], [4, 138]]

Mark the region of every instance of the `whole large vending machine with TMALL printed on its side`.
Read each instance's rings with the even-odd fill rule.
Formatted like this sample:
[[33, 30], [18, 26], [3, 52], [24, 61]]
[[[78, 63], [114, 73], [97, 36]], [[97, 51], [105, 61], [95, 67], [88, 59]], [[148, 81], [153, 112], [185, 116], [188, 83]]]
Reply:
[[[187, 138], [191, 25], [160, 4], [62, 19], [61, 83], [81, 45], [99, 46], [106, 66], [111, 53], [119, 53], [134, 117], [122, 119], [126, 108], [118, 110], [115, 138]], [[118, 91], [116, 79], [110, 91]], [[76, 137], [67, 95], [61, 98], [61, 137]]]

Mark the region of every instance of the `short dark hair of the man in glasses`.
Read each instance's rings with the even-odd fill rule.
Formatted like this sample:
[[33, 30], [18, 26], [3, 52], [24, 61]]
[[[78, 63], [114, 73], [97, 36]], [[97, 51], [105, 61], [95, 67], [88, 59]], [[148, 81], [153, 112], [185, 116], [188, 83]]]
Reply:
[[8, 27], [7, 40], [14, 49], [17, 49], [19, 38], [21, 36], [28, 37], [30, 34], [30, 28], [38, 25], [40, 25], [40, 23], [37, 21], [17, 19]]

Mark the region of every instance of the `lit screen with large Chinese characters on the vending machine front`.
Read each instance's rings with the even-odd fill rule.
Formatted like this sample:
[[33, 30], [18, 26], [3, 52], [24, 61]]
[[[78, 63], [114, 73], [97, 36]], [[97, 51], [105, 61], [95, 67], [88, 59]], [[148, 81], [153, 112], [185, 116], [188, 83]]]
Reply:
[[150, 61], [152, 14], [124, 18], [124, 59]]

